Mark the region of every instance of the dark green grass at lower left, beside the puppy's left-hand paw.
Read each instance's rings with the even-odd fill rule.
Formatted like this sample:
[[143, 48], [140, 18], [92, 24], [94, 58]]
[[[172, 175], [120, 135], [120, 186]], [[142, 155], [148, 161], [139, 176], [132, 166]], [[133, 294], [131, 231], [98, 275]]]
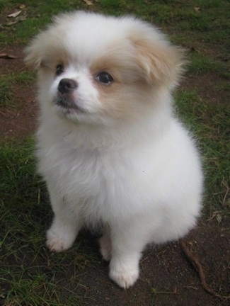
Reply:
[[81, 271], [98, 258], [84, 255], [90, 251], [81, 237], [64, 257], [44, 247], [52, 215], [45, 186], [35, 174], [33, 149], [31, 139], [0, 148], [0, 293], [6, 305], [79, 305], [74, 290], [81, 286]]

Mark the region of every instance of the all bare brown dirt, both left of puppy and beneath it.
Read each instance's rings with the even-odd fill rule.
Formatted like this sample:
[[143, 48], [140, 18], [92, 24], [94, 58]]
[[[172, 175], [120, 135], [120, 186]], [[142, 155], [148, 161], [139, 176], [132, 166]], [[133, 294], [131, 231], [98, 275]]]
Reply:
[[[3, 52], [3, 50], [1, 50]], [[28, 68], [23, 64], [21, 48], [4, 50], [15, 55], [16, 59], [0, 59], [1, 75], [8, 72], [24, 72]], [[191, 80], [190, 80], [190, 86]], [[35, 88], [16, 84], [13, 87], [15, 106], [0, 108], [0, 140], [23, 137], [35, 131], [38, 106], [35, 102]], [[108, 263], [98, 260], [94, 268], [87, 267], [81, 274], [81, 286], [76, 293], [88, 297], [87, 305], [157, 305], [157, 306], [227, 306], [229, 295], [229, 222], [222, 217], [218, 222], [200, 220], [199, 225], [185, 237], [187, 249], [202, 266], [209, 288], [221, 295], [207, 293], [202, 278], [192, 266], [179, 242], [163, 246], [149, 246], [144, 251], [140, 263], [140, 278], [133, 288], [122, 290], [108, 278]], [[95, 249], [98, 246], [95, 237], [82, 234], [85, 244]], [[98, 254], [99, 258], [99, 254]], [[69, 271], [71, 277], [71, 271]], [[67, 273], [68, 281], [68, 273]]]

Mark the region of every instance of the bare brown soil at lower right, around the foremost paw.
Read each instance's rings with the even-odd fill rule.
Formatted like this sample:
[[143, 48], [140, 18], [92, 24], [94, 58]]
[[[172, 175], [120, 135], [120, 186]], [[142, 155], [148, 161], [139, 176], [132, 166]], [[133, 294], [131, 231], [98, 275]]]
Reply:
[[[133, 288], [117, 288], [108, 278], [108, 263], [101, 261], [96, 268], [86, 268], [76, 288], [90, 297], [87, 305], [156, 305], [156, 306], [227, 306], [229, 299], [229, 225], [211, 220], [197, 226], [183, 239], [192, 256], [202, 266], [202, 272], [214, 296], [204, 289], [202, 281], [185, 256], [179, 242], [149, 246], [140, 263], [140, 278]], [[89, 239], [85, 243], [93, 244]], [[96, 247], [95, 247], [96, 249]]]

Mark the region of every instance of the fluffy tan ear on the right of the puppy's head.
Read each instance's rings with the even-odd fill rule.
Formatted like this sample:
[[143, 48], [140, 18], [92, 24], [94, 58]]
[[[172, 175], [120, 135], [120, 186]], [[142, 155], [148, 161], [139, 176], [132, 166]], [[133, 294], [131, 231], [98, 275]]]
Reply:
[[149, 84], [162, 84], [173, 88], [183, 74], [185, 52], [167, 42], [139, 40], [137, 61]]

